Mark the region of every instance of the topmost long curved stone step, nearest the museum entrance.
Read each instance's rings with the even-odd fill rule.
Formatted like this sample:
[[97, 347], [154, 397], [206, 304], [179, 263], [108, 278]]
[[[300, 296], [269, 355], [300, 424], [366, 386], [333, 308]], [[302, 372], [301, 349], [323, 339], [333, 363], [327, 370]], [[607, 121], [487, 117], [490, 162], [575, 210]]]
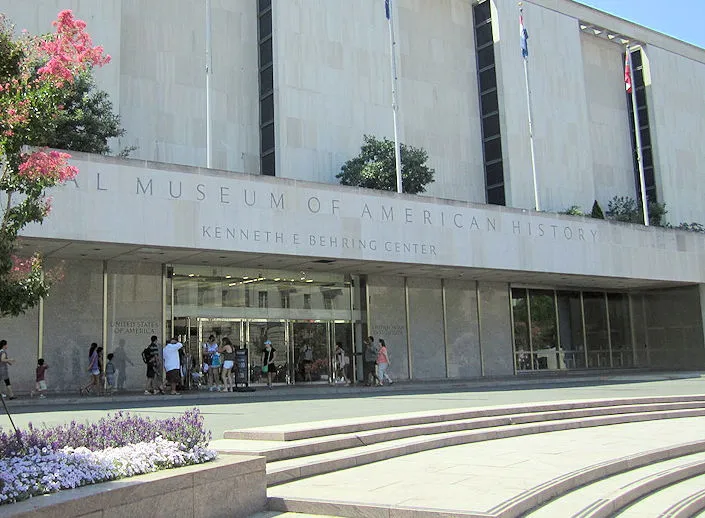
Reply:
[[638, 398], [592, 399], [577, 401], [557, 401], [531, 403], [525, 405], [502, 405], [473, 409], [454, 409], [430, 412], [412, 412], [402, 415], [374, 416], [357, 419], [333, 419], [317, 423], [295, 423], [264, 428], [228, 430], [224, 439], [245, 439], [260, 441], [296, 441], [345, 433], [357, 433], [380, 428], [411, 426], [427, 423], [457, 421], [479, 417], [493, 417], [518, 413], [549, 412], [559, 410], [588, 409], [595, 407], [618, 407], [657, 403], [705, 402], [705, 395], [653, 396]]

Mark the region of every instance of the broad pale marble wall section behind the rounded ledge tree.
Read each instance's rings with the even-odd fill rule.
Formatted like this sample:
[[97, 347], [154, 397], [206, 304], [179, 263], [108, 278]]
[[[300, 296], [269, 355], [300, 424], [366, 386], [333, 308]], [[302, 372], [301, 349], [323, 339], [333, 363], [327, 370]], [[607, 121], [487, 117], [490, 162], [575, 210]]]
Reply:
[[[470, 5], [394, 6], [400, 138], [428, 151], [430, 194], [484, 201]], [[337, 183], [364, 134], [393, 138], [384, 5], [299, 0], [273, 9], [277, 176]]]

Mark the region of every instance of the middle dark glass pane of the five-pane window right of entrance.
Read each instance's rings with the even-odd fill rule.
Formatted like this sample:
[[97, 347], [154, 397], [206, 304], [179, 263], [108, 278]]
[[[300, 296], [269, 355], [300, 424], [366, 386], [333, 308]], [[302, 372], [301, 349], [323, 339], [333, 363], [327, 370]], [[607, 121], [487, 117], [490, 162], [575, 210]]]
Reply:
[[559, 291], [556, 295], [560, 334], [559, 366], [561, 369], [584, 369], [585, 345], [580, 293]]

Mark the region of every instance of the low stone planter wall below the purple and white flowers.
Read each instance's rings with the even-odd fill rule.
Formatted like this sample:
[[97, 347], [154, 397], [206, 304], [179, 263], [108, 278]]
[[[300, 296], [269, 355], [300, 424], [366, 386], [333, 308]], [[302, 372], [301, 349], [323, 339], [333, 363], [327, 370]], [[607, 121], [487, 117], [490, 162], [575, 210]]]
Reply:
[[264, 457], [212, 462], [63, 490], [0, 506], [1, 517], [245, 518], [267, 505]]

